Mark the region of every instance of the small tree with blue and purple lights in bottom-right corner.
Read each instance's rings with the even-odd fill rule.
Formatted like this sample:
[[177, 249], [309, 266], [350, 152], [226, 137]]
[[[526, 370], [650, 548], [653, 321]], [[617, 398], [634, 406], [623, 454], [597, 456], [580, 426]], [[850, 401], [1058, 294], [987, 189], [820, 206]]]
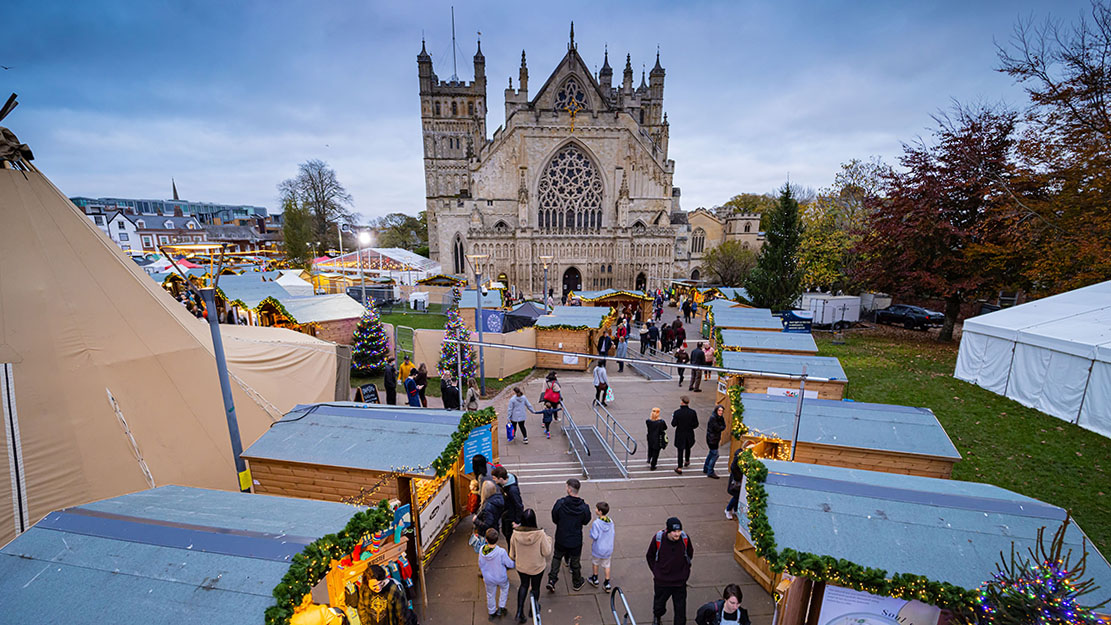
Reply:
[[[977, 614], [969, 623], [994, 625], [1072, 625], [1099, 623], [1092, 608], [1080, 597], [1097, 589], [1092, 579], [1084, 579], [1088, 562], [1087, 538], [1081, 543], [1080, 560], [1072, 563], [1072, 547], [1065, 552], [1064, 535], [1069, 518], [1045, 546], [1044, 531], [1038, 531], [1038, 542], [1029, 555], [1014, 553], [998, 565], [992, 579], [980, 587]], [[1000, 554], [1002, 555], [1002, 554]]]

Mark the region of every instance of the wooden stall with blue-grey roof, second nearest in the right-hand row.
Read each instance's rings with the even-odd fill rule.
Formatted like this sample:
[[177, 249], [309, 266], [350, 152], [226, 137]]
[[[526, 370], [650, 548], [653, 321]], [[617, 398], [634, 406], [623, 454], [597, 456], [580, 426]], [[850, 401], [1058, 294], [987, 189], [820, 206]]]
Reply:
[[[798, 399], [741, 393], [739, 400], [743, 410], [733, 414], [743, 415], [738, 427], [743, 434], [733, 447], [751, 445], [757, 457], [789, 460]], [[794, 462], [948, 478], [960, 460], [929, 409], [802, 402]]]

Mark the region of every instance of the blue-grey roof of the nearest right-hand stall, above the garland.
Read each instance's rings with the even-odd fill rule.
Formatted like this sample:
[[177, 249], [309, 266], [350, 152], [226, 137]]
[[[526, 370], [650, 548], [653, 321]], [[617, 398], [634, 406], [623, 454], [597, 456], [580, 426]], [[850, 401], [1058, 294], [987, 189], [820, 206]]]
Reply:
[[[1027, 553], [1039, 528], [1052, 533], [1065, 517], [1060, 507], [990, 484], [761, 462], [777, 548], [844, 558], [889, 578], [910, 573], [977, 588], [1012, 542]], [[1082, 537], [1071, 523], [1065, 550], [1079, 554]], [[1087, 546], [1087, 575], [1100, 586], [1088, 602], [1095, 604], [1111, 596], [1111, 565], [1091, 541]]]

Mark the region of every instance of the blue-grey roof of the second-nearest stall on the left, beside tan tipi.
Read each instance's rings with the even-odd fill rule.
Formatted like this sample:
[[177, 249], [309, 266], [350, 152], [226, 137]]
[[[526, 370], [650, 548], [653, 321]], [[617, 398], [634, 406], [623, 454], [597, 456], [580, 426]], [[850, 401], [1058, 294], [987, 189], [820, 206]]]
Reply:
[[[248, 447], [243, 457], [364, 471], [429, 466], [448, 447], [462, 416], [462, 411], [354, 402], [299, 405]], [[433, 475], [436, 471], [406, 473]]]

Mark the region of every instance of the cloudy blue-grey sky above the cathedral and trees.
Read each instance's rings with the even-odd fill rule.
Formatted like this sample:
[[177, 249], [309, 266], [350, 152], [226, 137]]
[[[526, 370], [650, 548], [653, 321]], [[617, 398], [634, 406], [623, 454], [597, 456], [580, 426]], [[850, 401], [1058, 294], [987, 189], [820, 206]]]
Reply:
[[[540, 7], [543, 7], [542, 9]], [[930, 114], [961, 102], [1025, 104], [994, 71], [1019, 17], [1075, 21], [1087, 0], [945, 2], [459, 2], [459, 75], [487, 59], [490, 135], [528, 52], [533, 91], [567, 52], [603, 46], [667, 69], [682, 204], [792, 182], [830, 184], [841, 162], [895, 162]], [[450, 3], [8, 0], [0, 3], [3, 124], [68, 195], [277, 205], [276, 185], [322, 159], [367, 218], [424, 206], [417, 53], [451, 75]]]

